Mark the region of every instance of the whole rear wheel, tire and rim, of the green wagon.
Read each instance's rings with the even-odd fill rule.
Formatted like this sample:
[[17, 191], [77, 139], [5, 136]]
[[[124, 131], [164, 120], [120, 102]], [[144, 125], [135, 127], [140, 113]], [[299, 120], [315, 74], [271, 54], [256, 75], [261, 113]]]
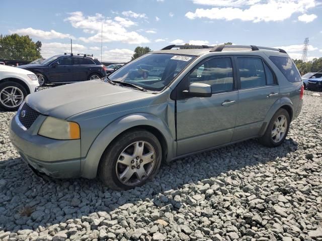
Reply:
[[272, 117], [266, 132], [259, 139], [260, 143], [267, 147], [277, 147], [281, 145], [290, 127], [290, 116], [286, 109], [279, 109]]

